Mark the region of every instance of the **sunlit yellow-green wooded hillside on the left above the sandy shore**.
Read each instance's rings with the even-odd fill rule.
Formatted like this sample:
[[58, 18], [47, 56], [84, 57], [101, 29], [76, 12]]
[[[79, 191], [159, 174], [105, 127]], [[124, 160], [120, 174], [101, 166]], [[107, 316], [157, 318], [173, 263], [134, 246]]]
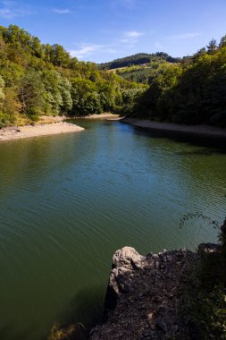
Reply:
[[115, 111], [140, 91], [142, 86], [79, 62], [58, 44], [41, 44], [15, 25], [0, 26], [0, 127], [39, 115]]

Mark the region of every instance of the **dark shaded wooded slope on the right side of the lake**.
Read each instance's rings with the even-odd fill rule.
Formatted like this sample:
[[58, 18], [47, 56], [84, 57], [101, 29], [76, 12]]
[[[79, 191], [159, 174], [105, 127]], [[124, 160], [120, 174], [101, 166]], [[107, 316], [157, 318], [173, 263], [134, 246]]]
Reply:
[[164, 65], [127, 114], [173, 123], [226, 126], [226, 36], [180, 64]]

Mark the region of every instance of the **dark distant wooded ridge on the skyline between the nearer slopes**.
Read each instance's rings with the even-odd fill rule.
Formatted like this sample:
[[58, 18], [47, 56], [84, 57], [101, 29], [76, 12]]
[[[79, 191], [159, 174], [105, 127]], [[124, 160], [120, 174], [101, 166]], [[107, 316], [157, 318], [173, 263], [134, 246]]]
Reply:
[[157, 52], [152, 54], [138, 53], [137, 55], [130, 55], [124, 58], [113, 60], [110, 63], [99, 64], [100, 70], [113, 70], [119, 67], [127, 67], [131, 65], [148, 64], [151, 62], [158, 62], [165, 60], [168, 63], [179, 63], [180, 58], [174, 58], [171, 55], [167, 55], [164, 52]]

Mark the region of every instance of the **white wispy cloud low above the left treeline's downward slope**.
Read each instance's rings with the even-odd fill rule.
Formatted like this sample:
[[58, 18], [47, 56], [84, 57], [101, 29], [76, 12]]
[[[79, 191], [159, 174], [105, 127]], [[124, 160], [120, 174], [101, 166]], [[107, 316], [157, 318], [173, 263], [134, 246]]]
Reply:
[[96, 52], [114, 54], [117, 50], [114, 48], [114, 45], [81, 44], [78, 49], [73, 49], [69, 52], [71, 56], [76, 56], [78, 59], [84, 59], [89, 55], [95, 55]]

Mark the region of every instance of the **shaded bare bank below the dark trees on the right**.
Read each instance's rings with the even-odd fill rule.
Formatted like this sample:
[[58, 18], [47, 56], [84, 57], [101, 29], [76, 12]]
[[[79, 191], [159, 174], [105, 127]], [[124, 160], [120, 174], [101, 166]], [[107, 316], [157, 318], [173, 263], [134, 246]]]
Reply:
[[205, 142], [225, 142], [226, 129], [207, 125], [186, 125], [179, 123], [159, 123], [137, 118], [122, 118], [121, 123], [144, 128], [165, 137], [183, 137], [188, 140]]

